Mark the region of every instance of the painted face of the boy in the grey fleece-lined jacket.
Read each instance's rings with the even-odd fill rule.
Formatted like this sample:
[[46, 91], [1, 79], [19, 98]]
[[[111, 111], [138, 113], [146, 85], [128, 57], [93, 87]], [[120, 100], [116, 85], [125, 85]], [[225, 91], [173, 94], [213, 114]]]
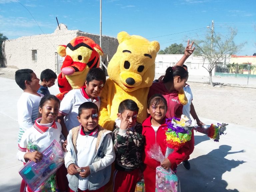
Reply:
[[83, 109], [80, 117], [77, 116], [77, 119], [84, 127], [84, 131], [91, 131], [98, 126], [99, 114], [95, 109]]

